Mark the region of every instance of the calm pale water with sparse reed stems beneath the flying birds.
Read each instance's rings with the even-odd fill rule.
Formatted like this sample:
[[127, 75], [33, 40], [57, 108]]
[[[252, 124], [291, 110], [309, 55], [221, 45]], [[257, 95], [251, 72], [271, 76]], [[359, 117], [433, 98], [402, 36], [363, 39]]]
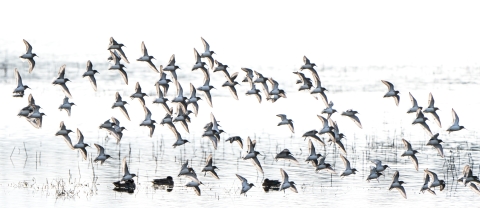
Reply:
[[[108, 54], [106, 55], [106, 57]], [[418, 203], [434, 203], [442, 206], [467, 205], [472, 200], [479, 201], [479, 196], [469, 188], [457, 184], [457, 177], [466, 164], [473, 166], [474, 174], [478, 175], [479, 158], [479, 131], [475, 118], [476, 111], [471, 109], [480, 105], [477, 96], [472, 92], [480, 89], [478, 77], [480, 70], [472, 67], [326, 67], [318, 68], [322, 85], [329, 91], [327, 96], [340, 113], [347, 109], [360, 112], [359, 118], [363, 129], [359, 129], [350, 119], [335, 113], [332, 119], [338, 122], [340, 131], [346, 135], [344, 140], [347, 148], [347, 158], [352, 167], [359, 172], [341, 179], [338, 175], [325, 172], [315, 173], [311, 165], [303, 162], [308, 155], [308, 141], [301, 137], [306, 131], [319, 129], [321, 122], [317, 114], [325, 108], [320, 100], [315, 100], [306, 92], [297, 91], [295, 85], [297, 76], [292, 72], [302, 64], [299, 57], [297, 63], [285, 67], [258, 67], [264, 76], [273, 76], [280, 83], [280, 87], [287, 91], [287, 99], [280, 99], [276, 103], [263, 100], [259, 104], [254, 97], [245, 96], [249, 85], [241, 83], [237, 87], [239, 101], [234, 100], [228, 89], [222, 88], [224, 82], [222, 74], [211, 74], [213, 108], [205, 101], [199, 101], [199, 114], [192, 117], [189, 124], [190, 134], [177, 125], [177, 129], [187, 143], [179, 148], [172, 148], [175, 139], [172, 132], [166, 127], [157, 125], [153, 138], [148, 137], [148, 128], [140, 127], [144, 119], [144, 112], [137, 100], [128, 97], [134, 93], [135, 83], [140, 82], [146, 97], [147, 107], [153, 113], [153, 119], [159, 123], [165, 112], [162, 107], [152, 104], [155, 97], [154, 83], [158, 75], [153, 73], [146, 64], [135, 62], [134, 55], [129, 55], [132, 64], [127, 65], [129, 85], [125, 85], [120, 75], [108, 71], [107, 63], [93, 63], [97, 74], [98, 91], [94, 92], [88, 79], [82, 78], [85, 63], [67, 63], [66, 77], [72, 80], [68, 87], [73, 95], [71, 102], [71, 117], [64, 111], [59, 111], [63, 92], [50, 83], [56, 78], [58, 68], [63, 63], [37, 62], [32, 74], [27, 73], [27, 64], [18, 60], [17, 63], [24, 84], [32, 90], [27, 90], [24, 98], [13, 98], [11, 91], [15, 88], [13, 70], [9, 70], [6, 77], [0, 77], [1, 102], [0, 113], [0, 168], [3, 172], [0, 178], [0, 206], [31, 206], [32, 203], [56, 206], [87, 205], [87, 206], [135, 206], [142, 205], [173, 205], [191, 203], [201, 206], [236, 207], [264, 203], [268, 201], [273, 206], [287, 207], [292, 205], [328, 206], [351, 204], [360, 205], [375, 203], [375, 205], [417, 205]], [[313, 59], [313, 57], [311, 57]], [[44, 61], [44, 60], [43, 60]], [[312, 60], [313, 61], [313, 60]], [[166, 60], [162, 60], [162, 63]], [[43, 65], [42, 65], [43, 64]], [[182, 65], [183, 64], [183, 65]], [[224, 63], [228, 64], [228, 63]], [[157, 64], [158, 65], [158, 64]], [[183, 86], [184, 95], [189, 97], [189, 83], [198, 87], [203, 84], [203, 74], [200, 71], [191, 72], [191, 64], [180, 63], [179, 81]], [[241, 66], [233, 66], [230, 73], [239, 72], [243, 79]], [[310, 77], [310, 73], [305, 72]], [[395, 106], [393, 99], [383, 98], [386, 87], [380, 81], [388, 80], [401, 92], [400, 106]], [[128, 121], [118, 109], [111, 109], [115, 100], [115, 92], [119, 92], [123, 99], [130, 103], [127, 110], [131, 121]], [[440, 108], [439, 116], [442, 127], [433, 122], [428, 123], [433, 133], [440, 133], [444, 143], [445, 158], [437, 155], [435, 149], [425, 146], [429, 137], [419, 126], [411, 125], [415, 115], [406, 114], [411, 103], [408, 98], [411, 92], [419, 105], [426, 107], [428, 93], [432, 92], [435, 104]], [[44, 117], [42, 129], [35, 129], [23, 118], [17, 117], [18, 111], [27, 105], [28, 94], [32, 93], [36, 103], [42, 106]], [[167, 97], [174, 96], [175, 87], [172, 85]], [[198, 92], [203, 97], [201, 92]], [[263, 94], [262, 94], [263, 95]], [[264, 98], [263, 98], [264, 99]], [[460, 117], [460, 124], [467, 130], [448, 134], [446, 129], [451, 125], [451, 109], [454, 108]], [[214, 150], [207, 138], [202, 138], [203, 126], [210, 121], [213, 112], [225, 130], [218, 150]], [[280, 121], [277, 114], [286, 114], [294, 121], [295, 134], [288, 127], [277, 126]], [[98, 126], [111, 116], [120, 120], [125, 126], [124, 136], [120, 144], [116, 144], [113, 137], [107, 136]], [[427, 115], [428, 116], [428, 115]], [[112, 155], [103, 165], [92, 164], [96, 157], [95, 148], [88, 148], [88, 159], [83, 160], [78, 151], [70, 150], [62, 137], [56, 137], [59, 123], [64, 121], [67, 128], [75, 131], [79, 128], [85, 136], [85, 143], [93, 146], [100, 144], [106, 153]], [[256, 150], [260, 157], [265, 175], [257, 173], [250, 161], [241, 159], [241, 150], [236, 143], [224, 143], [229, 136], [241, 136], [244, 141], [250, 136], [257, 140]], [[76, 134], [70, 134], [72, 142], [76, 142]], [[419, 171], [415, 171], [408, 158], [402, 158], [405, 138], [412, 143], [420, 154]], [[324, 137], [324, 139], [327, 139]], [[344, 170], [344, 165], [333, 146], [325, 149], [316, 145], [317, 151], [327, 154], [326, 162], [334, 165], [337, 173]], [[300, 164], [291, 164], [284, 161], [275, 161], [276, 153], [288, 148]], [[205, 158], [213, 154], [214, 165], [220, 170], [220, 180], [209, 174], [201, 173], [205, 165]], [[120, 164], [123, 157], [128, 157], [128, 165], [132, 173], [136, 173], [137, 189], [133, 194], [115, 192], [112, 182], [122, 177]], [[368, 160], [380, 159], [391, 169], [385, 171], [386, 177], [380, 182], [365, 181], [369, 166]], [[199, 179], [204, 183], [200, 186], [202, 195], [197, 196], [191, 188], [184, 186], [188, 182], [185, 178], [177, 177], [178, 171], [185, 160], [196, 170]], [[261, 188], [264, 178], [281, 179], [279, 169], [283, 168], [295, 181], [298, 194], [287, 190], [283, 192], [265, 193]], [[447, 181], [447, 187], [437, 196], [429, 193], [419, 193], [423, 185], [423, 170], [429, 168], [437, 173], [439, 178]], [[405, 200], [396, 191], [388, 191], [393, 173], [398, 170], [408, 199]], [[239, 195], [241, 183], [235, 174], [242, 175], [256, 186], [248, 191], [247, 196]], [[174, 177], [175, 187], [172, 192], [154, 189], [150, 181], [155, 178]], [[66, 195], [57, 194], [58, 184], [64, 183]]]

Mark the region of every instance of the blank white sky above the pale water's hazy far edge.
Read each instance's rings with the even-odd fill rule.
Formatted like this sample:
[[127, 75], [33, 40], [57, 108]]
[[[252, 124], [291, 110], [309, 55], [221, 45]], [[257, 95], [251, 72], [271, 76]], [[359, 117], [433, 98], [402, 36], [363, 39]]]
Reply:
[[[10, 1], [0, 52], [103, 61], [111, 36], [129, 59], [193, 64], [200, 37], [233, 66], [476, 65], [478, 1]], [[272, 3], [270, 3], [272, 2]], [[3, 5], [2, 5], [3, 4]], [[47, 57], [50, 57], [49, 55]], [[130, 61], [132, 61], [130, 60]]]

